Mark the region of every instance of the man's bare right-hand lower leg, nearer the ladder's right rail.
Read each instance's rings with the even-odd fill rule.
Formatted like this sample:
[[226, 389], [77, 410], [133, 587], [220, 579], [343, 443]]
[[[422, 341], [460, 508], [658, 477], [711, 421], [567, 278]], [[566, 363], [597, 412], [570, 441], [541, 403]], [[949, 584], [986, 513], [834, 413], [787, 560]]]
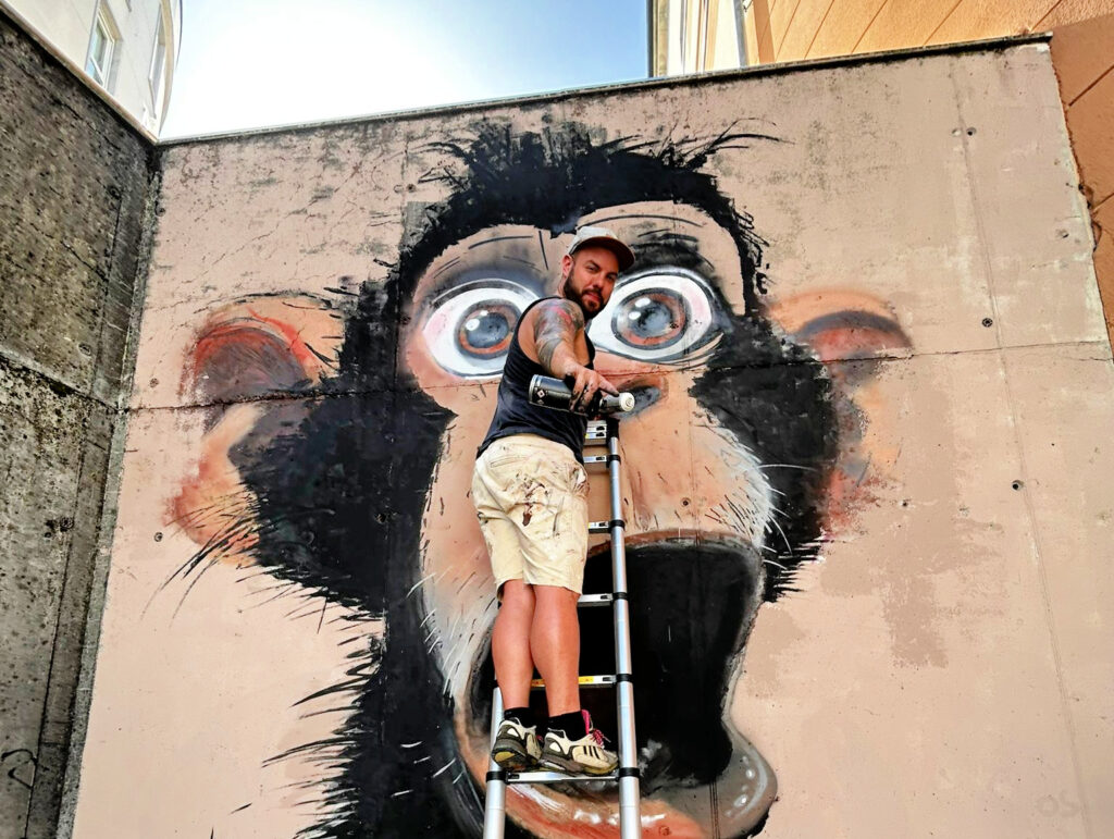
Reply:
[[580, 618], [576, 609], [579, 595], [560, 586], [534, 586], [534, 597], [530, 653], [546, 681], [549, 715], [579, 711]]

